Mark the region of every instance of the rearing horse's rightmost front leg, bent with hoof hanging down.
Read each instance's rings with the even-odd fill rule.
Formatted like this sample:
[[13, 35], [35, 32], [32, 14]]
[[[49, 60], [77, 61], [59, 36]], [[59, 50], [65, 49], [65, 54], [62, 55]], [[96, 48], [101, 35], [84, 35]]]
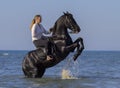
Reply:
[[84, 43], [83, 43], [83, 39], [82, 38], [78, 38], [74, 43], [77, 43], [77, 52], [75, 53], [73, 59], [74, 61], [78, 58], [78, 56], [82, 53], [83, 49], [84, 49]]

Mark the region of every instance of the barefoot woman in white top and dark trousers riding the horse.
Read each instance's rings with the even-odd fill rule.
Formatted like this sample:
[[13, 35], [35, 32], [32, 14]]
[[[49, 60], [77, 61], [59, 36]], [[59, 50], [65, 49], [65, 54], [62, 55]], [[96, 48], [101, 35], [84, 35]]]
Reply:
[[30, 25], [30, 30], [32, 34], [32, 41], [36, 48], [45, 47], [49, 48], [47, 52], [47, 60], [52, 59], [51, 51], [50, 51], [50, 42], [47, 40], [47, 36], [44, 34], [50, 34], [45, 28], [40, 24], [42, 22], [42, 17], [40, 15], [36, 15], [32, 20]]

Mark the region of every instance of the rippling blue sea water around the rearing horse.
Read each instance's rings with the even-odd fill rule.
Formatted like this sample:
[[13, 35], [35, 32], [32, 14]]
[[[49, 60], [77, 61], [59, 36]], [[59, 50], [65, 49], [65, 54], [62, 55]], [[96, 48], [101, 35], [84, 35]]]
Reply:
[[84, 51], [75, 62], [70, 54], [37, 79], [22, 72], [27, 52], [0, 51], [0, 88], [120, 88], [120, 51]]

